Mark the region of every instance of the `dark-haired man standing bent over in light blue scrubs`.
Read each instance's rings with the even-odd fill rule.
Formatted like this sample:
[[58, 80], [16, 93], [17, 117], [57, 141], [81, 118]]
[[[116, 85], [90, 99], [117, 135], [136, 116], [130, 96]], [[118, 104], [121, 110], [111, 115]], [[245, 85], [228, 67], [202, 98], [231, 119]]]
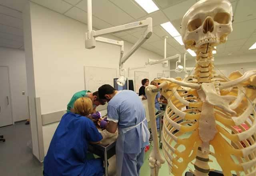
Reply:
[[98, 94], [108, 101], [106, 130], [114, 133], [118, 128], [116, 176], [139, 176], [150, 137], [142, 101], [135, 92], [117, 91], [108, 84]]

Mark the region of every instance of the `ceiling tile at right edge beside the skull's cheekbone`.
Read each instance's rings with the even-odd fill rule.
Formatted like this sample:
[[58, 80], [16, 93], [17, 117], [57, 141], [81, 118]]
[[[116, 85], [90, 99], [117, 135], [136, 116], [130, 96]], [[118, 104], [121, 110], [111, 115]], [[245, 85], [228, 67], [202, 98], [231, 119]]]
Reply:
[[247, 22], [240, 22], [233, 24], [233, 31], [228, 36], [228, 40], [236, 40], [242, 38], [249, 38], [250, 35], [256, 29], [256, 19], [247, 21]]

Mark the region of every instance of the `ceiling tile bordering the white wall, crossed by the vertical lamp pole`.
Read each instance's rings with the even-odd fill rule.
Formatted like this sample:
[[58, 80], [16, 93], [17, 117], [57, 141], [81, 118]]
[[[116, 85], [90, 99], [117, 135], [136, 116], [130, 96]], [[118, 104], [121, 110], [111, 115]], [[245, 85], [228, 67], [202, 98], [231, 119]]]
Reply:
[[[87, 24], [87, 12], [84, 12], [83, 10], [73, 7], [68, 12], [65, 13], [66, 16], [76, 19], [80, 22]], [[104, 28], [110, 28], [112, 25], [100, 20], [99, 18], [96, 18], [92, 16], [92, 26], [97, 29], [104, 29]]]

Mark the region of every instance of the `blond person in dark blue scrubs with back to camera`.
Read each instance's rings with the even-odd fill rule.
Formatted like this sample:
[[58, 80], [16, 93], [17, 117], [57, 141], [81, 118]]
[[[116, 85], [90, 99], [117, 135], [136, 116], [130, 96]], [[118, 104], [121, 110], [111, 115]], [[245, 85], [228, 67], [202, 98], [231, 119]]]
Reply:
[[90, 98], [74, 103], [74, 113], [64, 114], [44, 158], [44, 176], [103, 176], [103, 161], [86, 159], [88, 143], [102, 140], [95, 124], [87, 118], [92, 113]]

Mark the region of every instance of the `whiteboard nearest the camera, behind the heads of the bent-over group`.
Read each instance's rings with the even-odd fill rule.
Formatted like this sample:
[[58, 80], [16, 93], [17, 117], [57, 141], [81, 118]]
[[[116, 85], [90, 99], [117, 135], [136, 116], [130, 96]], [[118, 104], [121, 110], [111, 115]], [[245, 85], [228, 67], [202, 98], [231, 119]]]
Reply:
[[110, 84], [114, 87], [114, 78], [117, 77], [115, 68], [89, 67], [84, 66], [84, 87], [85, 90], [97, 91], [103, 84]]

